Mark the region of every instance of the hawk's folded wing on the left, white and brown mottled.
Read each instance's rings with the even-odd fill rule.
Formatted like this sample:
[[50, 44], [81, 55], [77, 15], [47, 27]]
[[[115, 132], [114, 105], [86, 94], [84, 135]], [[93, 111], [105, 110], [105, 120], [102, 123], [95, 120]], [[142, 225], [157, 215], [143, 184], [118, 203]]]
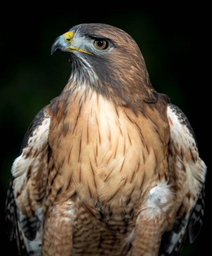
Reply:
[[33, 119], [13, 163], [6, 200], [6, 227], [19, 255], [41, 255], [42, 199], [48, 177], [49, 106]]

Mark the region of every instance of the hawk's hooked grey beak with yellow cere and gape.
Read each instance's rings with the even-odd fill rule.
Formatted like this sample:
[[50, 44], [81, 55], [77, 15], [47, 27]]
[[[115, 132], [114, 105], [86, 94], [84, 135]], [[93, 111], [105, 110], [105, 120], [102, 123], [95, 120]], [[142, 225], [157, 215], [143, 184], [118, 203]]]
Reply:
[[69, 31], [69, 32], [66, 32], [64, 35], [58, 36], [55, 42], [51, 46], [51, 55], [53, 55], [53, 53], [57, 50], [65, 53], [78, 51], [78, 52], [92, 55], [92, 53], [89, 53], [85, 50], [75, 47], [73, 45], [73, 36], [74, 36], [74, 31]]

